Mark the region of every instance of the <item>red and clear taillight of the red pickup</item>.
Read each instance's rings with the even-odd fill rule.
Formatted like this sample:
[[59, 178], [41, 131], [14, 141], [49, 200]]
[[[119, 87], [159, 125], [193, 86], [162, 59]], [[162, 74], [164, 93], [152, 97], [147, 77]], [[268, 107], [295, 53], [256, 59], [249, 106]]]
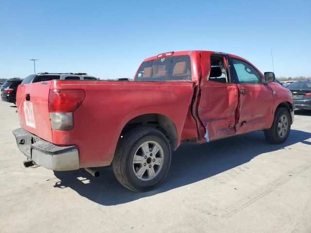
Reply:
[[52, 89], [49, 94], [49, 112], [53, 130], [73, 128], [73, 112], [86, 99], [82, 89]]

